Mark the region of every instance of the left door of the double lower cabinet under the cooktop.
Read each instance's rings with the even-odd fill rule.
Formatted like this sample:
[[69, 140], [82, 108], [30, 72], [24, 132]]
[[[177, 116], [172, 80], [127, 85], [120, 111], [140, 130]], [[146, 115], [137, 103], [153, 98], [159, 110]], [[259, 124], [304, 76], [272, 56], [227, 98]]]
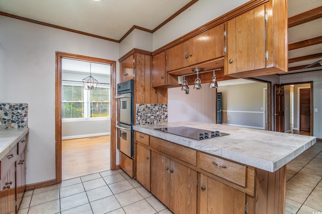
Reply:
[[170, 159], [154, 151], [151, 151], [151, 193], [170, 207]]

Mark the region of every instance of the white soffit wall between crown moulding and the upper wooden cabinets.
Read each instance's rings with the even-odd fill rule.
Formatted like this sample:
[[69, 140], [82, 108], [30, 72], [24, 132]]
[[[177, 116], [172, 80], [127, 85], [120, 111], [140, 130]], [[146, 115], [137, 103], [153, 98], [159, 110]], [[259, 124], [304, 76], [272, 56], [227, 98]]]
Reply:
[[167, 45], [249, 0], [202, 0], [153, 33], [152, 50]]

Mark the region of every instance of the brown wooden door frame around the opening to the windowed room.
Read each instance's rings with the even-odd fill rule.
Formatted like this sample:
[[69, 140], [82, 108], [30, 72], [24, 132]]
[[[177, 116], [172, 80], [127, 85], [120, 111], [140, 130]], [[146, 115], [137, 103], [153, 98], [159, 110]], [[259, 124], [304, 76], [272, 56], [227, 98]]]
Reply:
[[62, 59], [72, 59], [88, 61], [93, 63], [103, 63], [111, 65], [111, 170], [116, 169], [116, 134], [115, 134], [115, 121], [116, 115], [113, 112], [116, 109], [115, 106], [115, 90], [116, 90], [116, 61], [106, 60], [95, 57], [88, 57], [76, 54], [69, 54], [63, 52], [56, 52], [56, 81], [55, 81], [55, 156], [56, 156], [56, 183], [61, 183], [61, 100], [62, 100], [62, 71], [61, 63]]

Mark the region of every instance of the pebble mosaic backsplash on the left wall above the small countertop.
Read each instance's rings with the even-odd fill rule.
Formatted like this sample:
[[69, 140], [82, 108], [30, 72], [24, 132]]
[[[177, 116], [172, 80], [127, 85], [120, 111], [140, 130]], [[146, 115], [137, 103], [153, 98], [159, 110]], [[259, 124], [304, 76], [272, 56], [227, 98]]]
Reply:
[[28, 127], [27, 103], [0, 103], [0, 128]]

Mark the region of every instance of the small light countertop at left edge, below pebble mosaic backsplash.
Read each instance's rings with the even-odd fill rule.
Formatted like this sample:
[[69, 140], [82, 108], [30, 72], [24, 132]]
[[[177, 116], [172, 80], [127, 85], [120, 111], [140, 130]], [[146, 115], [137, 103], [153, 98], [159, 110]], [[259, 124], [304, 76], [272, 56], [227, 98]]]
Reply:
[[0, 160], [21, 140], [29, 128], [0, 129]]

